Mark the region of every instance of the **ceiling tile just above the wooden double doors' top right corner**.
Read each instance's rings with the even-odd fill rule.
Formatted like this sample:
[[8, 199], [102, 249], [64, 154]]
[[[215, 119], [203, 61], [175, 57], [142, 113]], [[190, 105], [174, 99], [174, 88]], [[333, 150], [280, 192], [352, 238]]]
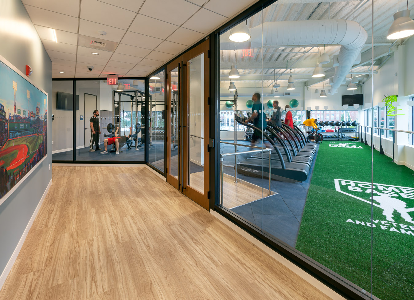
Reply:
[[202, 8], [185, 22], [183, 27], [207, 34], [216, 29], [227, 19], [228, 18], [216, 14], [215, 12], [210, 12], [209, 10]]

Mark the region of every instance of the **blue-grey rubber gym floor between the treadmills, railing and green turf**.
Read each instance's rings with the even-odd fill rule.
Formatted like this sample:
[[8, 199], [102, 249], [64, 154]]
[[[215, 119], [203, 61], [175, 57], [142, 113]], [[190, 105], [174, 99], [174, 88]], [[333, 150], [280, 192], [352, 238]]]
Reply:
[[[221, 140], [222, 142], [227, 142]], [[233, 141], [228, 141], [233, 143]], [[261, 143], [252, 144], [249, 142], [238, 141], [246, 145], [261, 146]], [[267, 147], [270, 146], [265, 144]], [[255, 150], [254, 148], [238, 147], [238, 152]], [[220, 145], [220, 153], [233, 153], [233, 145]], [[316, 152], [315, 157], [318, 152]], [[245, 160], [254, 153], [246, 155], [237, 155], [237, 162]], [[264, 154], [267, 155], [267, 154]], [[224, 165], [231, 165], [231, 167], [223, 167], [223, 172], [234, 176], [234, 156], [224, 158]], [[303, 208], [305, 207], [306, 197], [310, 185], [310, 179], [315, 166], [315, 159], [310, 167], [310, 174], [308, 179], [303, 182], [282, 182], [275, 179], [271, 181], [271, 190], [278, 194], [266, 197], [266, 189], [269, 188], [269, 179], [250, 177], [243, 174], [237, 174], [237, 178], [248, 181], [263, 188], [263, 199], [230, 208], [234, 213], [237, 213], [242, 218], [248, 220], [250, 223], [262, 228], [264, 232], [278, 239], [286, 244], [295, 247], [296, 239], [298, 237], [299, 226], [301, 223]], [[224, 200], [224, 203], [225, 200]]]

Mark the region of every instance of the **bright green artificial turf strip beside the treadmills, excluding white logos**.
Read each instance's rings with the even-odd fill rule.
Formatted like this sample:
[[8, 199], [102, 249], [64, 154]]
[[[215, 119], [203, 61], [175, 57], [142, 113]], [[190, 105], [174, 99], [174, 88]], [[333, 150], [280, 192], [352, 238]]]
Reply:
[[[377, 223], [372, 222], [371, 203], [342, 194], [335, 189], [335, 179], [371, 183], [371, 147], [361, 142], [345, 143], [363, 148], [329, 146], [339, 145], [339, 142], [324, 141], [320, 144], [296, 249], [365, 289], [369, 295], [372, 223], [375, 225], [372, 228], [373, 295], [383, 300], [412, 300], [414, 224], [404, 220], [396, 210], [393, 213], [395, 225], [391, 224], [383, 215], [383, 209], [377, 206], [373, 206], [373, 220]], [[395, 193], [392, 198], [404, 201], [407, 208], [413, 208], [414, 199], [404, 198], [396, 193], [412, 190], [402, 191], [388, 185], [414, 188], [414, 171], [396, 165], [390, 157], [380, 155], [376, 150], [373, 166], [374, 186], [384, 184], [382, 190], [378, 186], [374, 190], [385, 194], [384, 187], [390, 189], [390, 193]], [[371, 190], [368, 188], [360, 187], [359, 191], [358, 183], [354, 183], [356, 187], [351, 189], [358, 191], [349, 191], [350, 182], [345, 181], [346, 185], [342, 185], [342, 181], [338, 182], [341, 191], [371, 202]], [[405, 195], [414, 198], [413, 194]], [[374, 203], [380, 205], [376, 201]], [[414, 211], [409, 212], [409, 215], [414, 218]]]

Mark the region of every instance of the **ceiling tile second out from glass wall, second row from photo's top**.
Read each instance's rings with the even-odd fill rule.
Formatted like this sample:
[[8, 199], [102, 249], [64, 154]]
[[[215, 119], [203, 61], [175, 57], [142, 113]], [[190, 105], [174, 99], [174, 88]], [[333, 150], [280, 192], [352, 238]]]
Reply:
[[159, 39], [166, 39], [177, 28], [177, 25], [138, 14], [128, 30]]

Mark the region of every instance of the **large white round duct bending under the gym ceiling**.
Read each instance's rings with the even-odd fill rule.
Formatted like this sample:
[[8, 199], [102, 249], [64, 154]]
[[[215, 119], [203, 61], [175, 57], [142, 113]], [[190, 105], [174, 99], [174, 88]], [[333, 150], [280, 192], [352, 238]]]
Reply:
[[339, 65], [332, 77], [331, 92], [335, 94], [346, 78], [364, 46], [367, 33], [357, 22], [333, 20], [265, 22], [250, 29], [250, 47], [341, 45]]

